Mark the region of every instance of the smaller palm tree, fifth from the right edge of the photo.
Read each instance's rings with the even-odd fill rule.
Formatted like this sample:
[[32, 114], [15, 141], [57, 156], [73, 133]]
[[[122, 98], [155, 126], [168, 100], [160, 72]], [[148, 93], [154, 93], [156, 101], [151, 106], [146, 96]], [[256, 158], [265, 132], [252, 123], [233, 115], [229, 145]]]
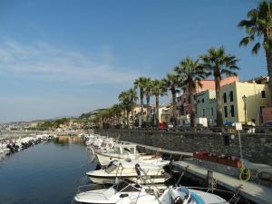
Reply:
[[159, 120], [159, 108], [160, 108], [160, 96], [166, 95], [167, 89], [161, 80], [155, 79], [151, 81], [151, 94], [155, 96], [156, 101], [156, 126], [160, 126]]

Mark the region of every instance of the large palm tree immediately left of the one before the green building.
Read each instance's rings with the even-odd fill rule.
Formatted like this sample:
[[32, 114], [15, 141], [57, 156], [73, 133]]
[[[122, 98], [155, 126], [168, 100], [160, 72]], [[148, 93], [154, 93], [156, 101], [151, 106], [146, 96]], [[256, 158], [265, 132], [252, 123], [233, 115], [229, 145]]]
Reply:
[[200, 81], [205, 78], [205, 73], [203, 69], [200, 67], [199, 60], [194, 60], [190, 57], [185, 58], [180, 62], [180, 66], [175, 67], [174, 71], [179, 73], [180, 78], [183, 81], [181, 86], [188, 86], [189, 92], [189, 104], [190, 104], [190, 126], [195, 126], [196, 119], [196, 110], [195, 110], [195, 102], [194, 102], [194, 93], [196, 91], [196, 84], [201, 86]]

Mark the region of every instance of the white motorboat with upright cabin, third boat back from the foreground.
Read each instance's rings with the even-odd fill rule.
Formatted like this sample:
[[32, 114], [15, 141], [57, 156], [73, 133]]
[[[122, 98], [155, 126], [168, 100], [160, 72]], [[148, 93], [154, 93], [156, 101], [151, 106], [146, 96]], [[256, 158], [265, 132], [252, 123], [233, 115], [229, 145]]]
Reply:
[[142, 155], [136, 150], [134, 144], [115, 144], [108, 151], [92, 150], [92, 152], [97, 156], [102, 167], [107, 166], [112, 160], [141, 160], [147, 163], [157, 163], [160, 166], [165, 166], [170, 162], [158, 156]]

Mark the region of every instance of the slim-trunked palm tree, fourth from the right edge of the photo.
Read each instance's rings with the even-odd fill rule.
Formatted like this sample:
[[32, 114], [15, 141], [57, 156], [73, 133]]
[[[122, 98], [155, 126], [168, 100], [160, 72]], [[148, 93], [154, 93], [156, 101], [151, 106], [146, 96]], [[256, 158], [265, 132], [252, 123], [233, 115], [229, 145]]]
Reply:
[[174, 73], [167, 73], [166, 78], [162, 80], [165, 84], [166, 88], [172, 94], [172, 101], [173, 101], [173, 116], [174, 116], [174, 127], [178, 125], [177, 120], [177, 92], [180, 92], [178, 88], [180, 87], [180, 77]]

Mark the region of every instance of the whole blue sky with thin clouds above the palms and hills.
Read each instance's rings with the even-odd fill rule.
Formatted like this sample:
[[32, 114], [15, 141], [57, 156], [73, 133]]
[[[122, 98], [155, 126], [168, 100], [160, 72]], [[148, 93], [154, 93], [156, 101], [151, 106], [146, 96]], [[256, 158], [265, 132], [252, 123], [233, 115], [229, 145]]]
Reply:
[[108, 107], [138, 76], [161, 78], [211, 46], [238, 56], [240, 79], [264, 75], [264, 52], [238, 46], [237, 24], [257, 3], [2, 0], [0, 122]]

